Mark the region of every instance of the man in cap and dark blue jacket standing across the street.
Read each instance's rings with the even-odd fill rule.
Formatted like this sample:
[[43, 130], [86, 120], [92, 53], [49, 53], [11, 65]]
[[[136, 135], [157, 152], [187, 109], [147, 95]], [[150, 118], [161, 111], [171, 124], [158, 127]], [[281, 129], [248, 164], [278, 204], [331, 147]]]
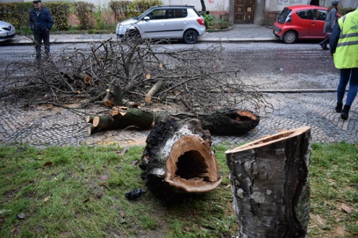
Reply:
[[34, 8], [30, 11], [30, 28], [34, 32], [36, 59], [41, 59], [41, 45], [45, 48], [45, 53], [50, 56], [50, 30], [54, 20], [50, 12], [42, 7], [41, 0], [34, 0]]

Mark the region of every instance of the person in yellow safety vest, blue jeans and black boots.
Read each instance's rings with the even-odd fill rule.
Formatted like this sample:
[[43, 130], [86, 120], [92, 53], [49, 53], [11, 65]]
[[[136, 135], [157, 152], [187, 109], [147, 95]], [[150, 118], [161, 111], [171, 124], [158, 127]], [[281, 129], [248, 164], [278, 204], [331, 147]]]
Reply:
[[[341, 113], [342, 119], [347, 120], [350, 107], [358, 91], [358, 8], [341, 17], [338, 24], [335, 24], [330, 36], [329, 47], [335, 68], [340, 69], [341, 73], [335, 111]], [[349, 89], [343, 107], [343, 97], [348, 82]]]

